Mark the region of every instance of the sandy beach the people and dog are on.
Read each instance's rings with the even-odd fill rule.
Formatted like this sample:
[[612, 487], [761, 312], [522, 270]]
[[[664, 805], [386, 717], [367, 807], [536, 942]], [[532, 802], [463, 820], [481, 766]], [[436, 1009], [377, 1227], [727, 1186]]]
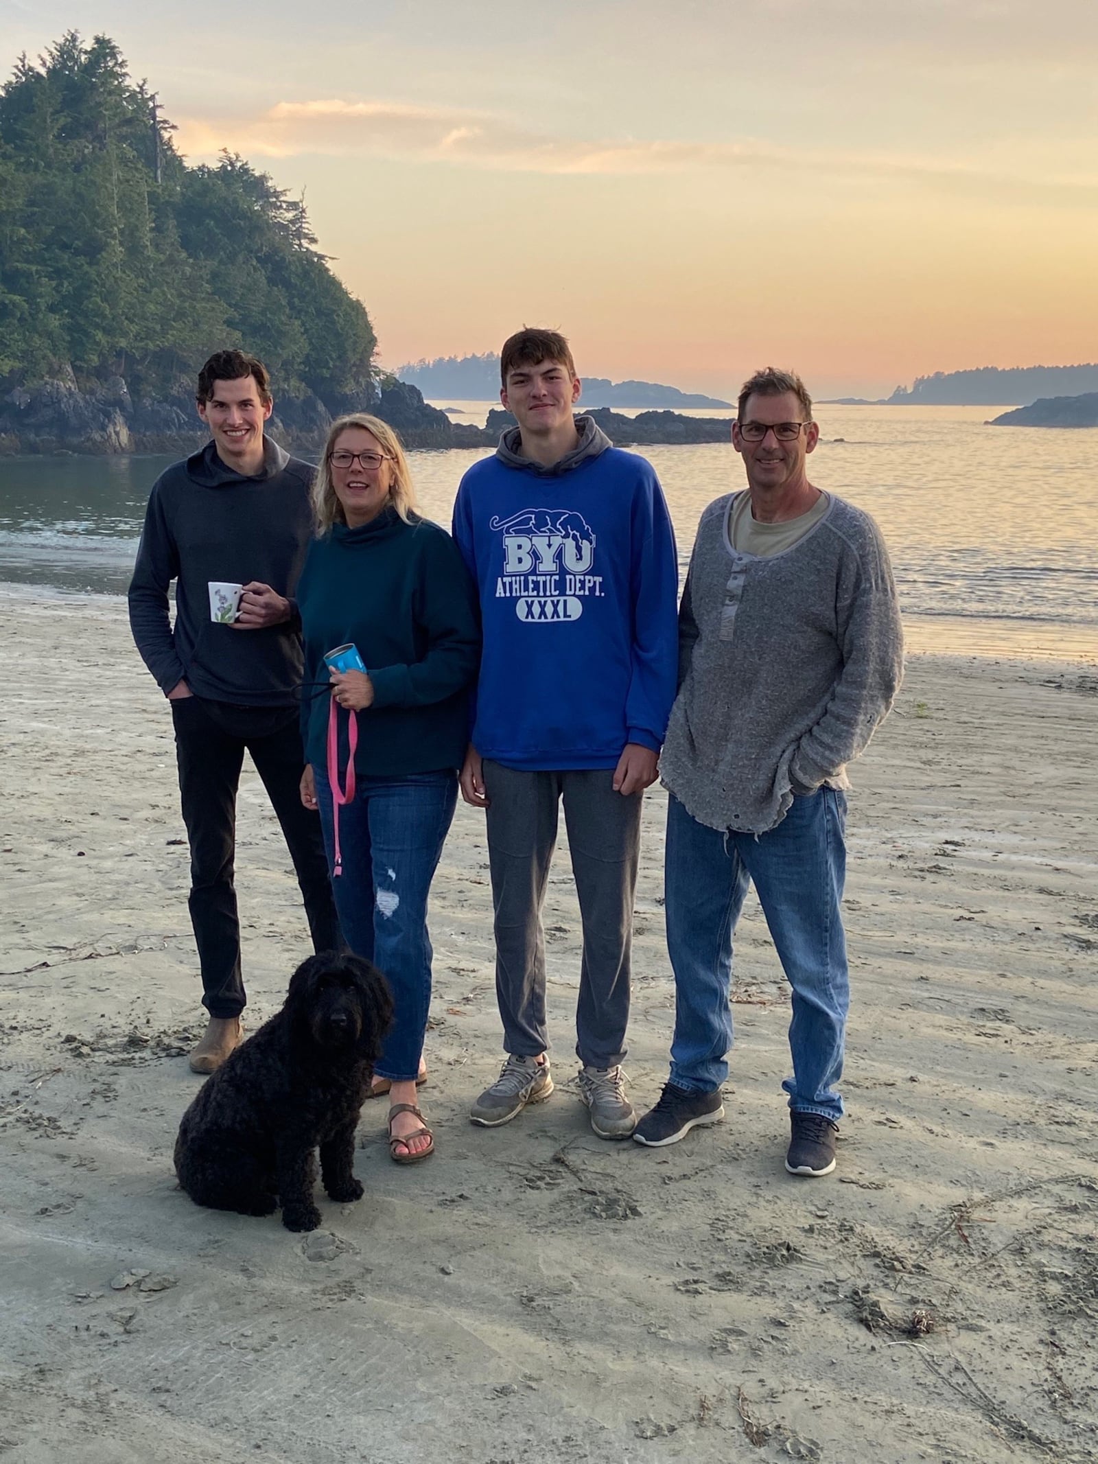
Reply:
[[[839, 1168], [782, 1168], [788, 997], [750, 897], [723, 1124], [599, 1140], [575, 1098], [578, 914], [546, 927], [558, 1092], [467, 1121], [501, 1061], [482, 815], [432, 903], [425, 1110], [321, 1230], [196, 1208], [199, 1079], [171, 719], [110, 599], [0, 602], [4, 1464], [1098, 1454], [1098, 666], [911, 660], [852, 770]], [[666, 1078], [663, 795], [647, 798], [627, 1070]], [[255, 1028], [307, 955], [253, 773], [237, 890]]]

